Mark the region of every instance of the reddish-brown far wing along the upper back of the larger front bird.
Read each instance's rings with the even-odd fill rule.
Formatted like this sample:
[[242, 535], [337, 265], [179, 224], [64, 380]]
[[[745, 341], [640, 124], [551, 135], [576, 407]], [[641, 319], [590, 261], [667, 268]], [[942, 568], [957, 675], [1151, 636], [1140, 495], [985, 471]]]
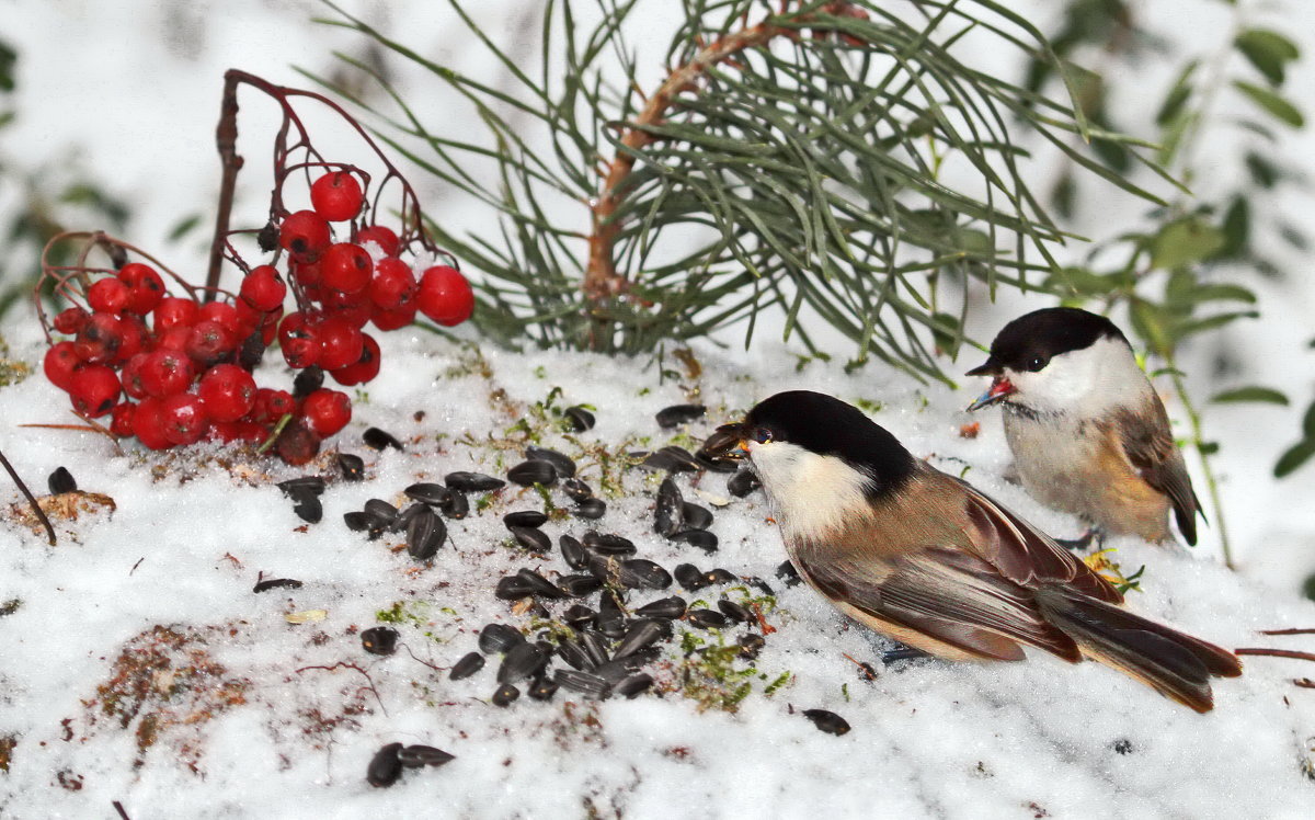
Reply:
[[944, 473], [965, 491], [968, 549], [995, 567], [1001, 575], [1023, 587], [1061, 584], [1099, 600], [1120, 604], [1123, 595], [1105, 578], [1053, 538], [997, 504], [968, 482]]

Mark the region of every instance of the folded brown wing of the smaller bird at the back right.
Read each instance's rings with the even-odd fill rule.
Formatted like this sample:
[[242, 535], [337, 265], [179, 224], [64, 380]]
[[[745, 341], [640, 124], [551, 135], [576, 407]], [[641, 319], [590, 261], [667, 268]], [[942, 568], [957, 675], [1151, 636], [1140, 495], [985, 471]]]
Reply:
[[1187, 544], [1195, 545], [1201, 501], [1191, 488], [1182, 453], [1173, 444], [1164, 404], [1152, 395], [1141, 412], [1122, 412], [1112, 425], [1124, 455], [1148, 484], [1169, 496], [1178, 530]]

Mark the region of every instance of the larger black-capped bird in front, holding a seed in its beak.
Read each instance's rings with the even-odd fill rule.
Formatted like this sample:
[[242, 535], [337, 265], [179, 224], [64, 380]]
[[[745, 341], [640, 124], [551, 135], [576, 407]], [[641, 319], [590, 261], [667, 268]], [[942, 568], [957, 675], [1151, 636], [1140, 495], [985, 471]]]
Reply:
[[1093, 658], [1198, 712], [1232, 653], [1122, 609], [1081, 559], [857, 408], [809, 391], [757, 404], [705, 454], [747, 455], [800, 575], [856, 621], [928, 654]]

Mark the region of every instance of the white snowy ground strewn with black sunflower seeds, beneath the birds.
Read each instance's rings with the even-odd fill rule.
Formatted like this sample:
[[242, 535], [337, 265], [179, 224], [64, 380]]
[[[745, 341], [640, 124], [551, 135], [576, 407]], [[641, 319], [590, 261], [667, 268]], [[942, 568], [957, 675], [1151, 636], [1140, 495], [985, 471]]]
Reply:
[[[30, 333], [8, 330], [18, 355], [36, 358]], [[179, 458], [117, 455], [107, 438], [91, 433], [38, 429], [8, 438], [9, 458], [33, 482], [63, 465], [82, 488], [112, 496], [117, 509], [60, 523], [55, 548], [17, 524], [0, 529], [0, 598], [22, 602], [0, 619], [0, 734], [18, 738], [9, 773], [0, 775], [0, 813], [107, 816], [112, 800], [133, 817], [786, 817], [819, 809], [902, 817], [1232, 817], [1239, 807], [1249, 816], [1298, 817], [1315, 806], [1315, 784], [1301, 769], [1315, 758], [1315, 698], [1290, 682], [1310, 673], [1304, 662], [1249, 658], [1245, 677], [1216, 684], [1218, 707], [1207, 716], [1094, 663], [1034, 657], [1015, 665], [915, 661], [885, 669], [885, 641], [847, 624], [807, 587], [785, 588], [773, 577], [784, 550], [760, 494], [717, 511], [721, 551], [709, 557], [652, 533], [658, 478], [642, 470], [626, 473], [627, 498], [608, 499], [602, 521], [567, 519], [544, 529], [555, 538], [598, 526], [633, 538], [642, 557], [668, 569], [689, 561], [765, 579], [780, 608], [767, 612], [776, 632], [767, 634], [756, 661], [763, 678], [750, 678], [753, 691], [734, 713], [701, 712], [679, 691], [600, 703], [563, 690], [550, 703], [522, 698], [498, 708], [489, 703], [496, 658], [459, 682], [425, 663], [451, 666], [476, 648], [487, 623], [529, 625], [529, 616], [493, 598], [501, 575], [522, 566], [548, 577], [568, 571], [556, 550], [534, 559], [506, 545], [501, 516], [542, 508], [539, 496], [504, 490], [483, 511], [450, 521], [448, 544], [426, 565], [396, 551], [397, 537], [367, 541], [347, 530], [342, 513], [368, 498], [397, 500], [412, 482], [451, 470], [505, 473], [519, 454], [488, 442], [506, 438], [517, 419], [533, 419], [530, 409], [554, 387], [564, 391], [559, 407], [597, 407], [597, 426], [577, 441], [609, 449], [688, 444], [780, 388], [849, 400], [880, 395], [884, 407], [873, 417], [919, 455], [955, 473], [969, 467], [970, 480], [1052, 532], [1069, 534], [1077, 524], [1002, 482], [1006, 448], [998, 420], [988, 419], [976, 440], [959, 436], [967, 390], [919, 394], [894, 374], [868, 369], [851, 378], [821, 362], [796, 371], [796, 358], [782, 349], [746, 361], [701, 347], [702, 374], [665, 383], [640, 361], [485, 349], [485, 378], [472, 367], [473, 351], [450, 341], [391, 333], [383, 342], [384, 375], [368, 386], [368, 401], [358, 403], [355, 420], [337, 438], [342, 450], [366, 458], [368, 479], [331, 483], [320, 524], [302, 525], [272, 484], [301, 470], [255, 465], [270, 471], [264, 478], [218, 466], [204, 450]], [[287, 378], [277, 367], [260, 372], [266, 383]], [[505, 399], [490, 403], [497, 390]], [[656, 411], [692, 397], [707, 404], [706, 419], [677, 430], [658, 428]], [[417, 411], [425, 411], [418, 423]], [[12, 423], [60, 421], [64, 397], [33, 378], [0, 391], [0, 413]], [[406, 441], [406, 451], [362, 446], [368, 425]], [[473, 446], [455, 441], [463, 433]], [[551, 430], [543, 444], [580, 457], [581, 476], [597, 486], [598, 466], [577, 444]], [[677, 480], [686, 498], [705, 505], [709, 496], [697, 494], [729, 498], [722, 475]], [[560, 490], [552, 498], [568, 505]], [[1310, 637], [1256, 634], [1311, 627], [1311, 602], [1265, 591], [1182, 550], [1134, 541], [1114, 546], [1124, 570], [1147, 565], [1144, 592], [1130, 596], [1139, 612], [1224, 646], [1315, 649]], [[262, 571], [305, 586], [252, 594]], [[736, 600], [759, 595], [723, 590]], [[682, 594], [635, 594], [631, 604], [672, 592]], [[718, 592], [684, 595], [711, 602]], [[397, 627], [425, 663], [406, 650], [380, 658], [360, 648], [356, 632], [376, 625], [376, 612], [396, 602], [418, 616]], [[559, 613], [563, 604], [548, 607]], [[308, 609], [327, 615], [301, 625], [284, 617]], [[143, 707], [122, 725], [101, 711], [97, 686], [114, 674], [125, 642], [156, 625], [188, 636], [187, 650], [208, 653], [222, 670], [185, 679], [181, 670], [196, 657], [170, 655], [172, 673], [143, 673]], [[709, 637], [677, 627], [677, 634], [684, 630]], [[726, 637], [744, 630], [727, 629]], [[675, 687], [680, 659], [679, 640], [665, 644], [650, 667], [660, 688]], [[368, 671], [377, 700], [358, 671], [304, 669], [339, 662]], [[864, 680], [857, 662], [873, 665], [876, 679]], [[765, 683], [786, 671], [789, 683], [767, 696]], [[242, 703], [206, 708], [224, 683], [234, 682]], [[836, 712], [852, 730], [822, 733], [798, 715], [805, 708]], [[142, 721], [153, 711], [179, 723], [158, 719], [158, 734], [142, 752]], [[179, 717], [185, 715], [204, 717], [187, 724]], [[366, 766], [392, 741], [434, 745], [456, 759], [408, 771], [392, 788], [372, 788]], [[1122, 741], [1130, 744], [1126, 754], [1115, 750]], [[60, 781], [78, 788], [60, 788]]]

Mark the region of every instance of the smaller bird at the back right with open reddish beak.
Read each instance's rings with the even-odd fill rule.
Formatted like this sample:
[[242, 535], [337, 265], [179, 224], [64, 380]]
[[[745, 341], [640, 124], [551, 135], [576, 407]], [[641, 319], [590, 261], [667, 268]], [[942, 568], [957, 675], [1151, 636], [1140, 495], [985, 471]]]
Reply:
[[1001, 404], [1023, 487], [1102, 532], [1168, 541], [1169, 511], [1197, 542], [1201, 503], [1164, 404], [1128, 340], [1103, 316], [1045, 308], [1005, 325], [968, 375], [990, 388], [968, 409]]

